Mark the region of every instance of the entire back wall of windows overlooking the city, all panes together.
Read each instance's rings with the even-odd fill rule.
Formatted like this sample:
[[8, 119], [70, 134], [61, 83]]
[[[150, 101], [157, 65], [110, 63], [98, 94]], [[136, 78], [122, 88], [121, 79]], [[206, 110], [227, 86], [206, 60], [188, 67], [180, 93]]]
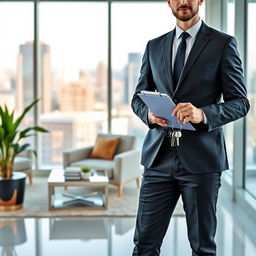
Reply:
[[[0, 3], [0, 104], [18, 113], [35, 95], [41, 98], [38, 121], [49, 133], [39, 135], [39, 167], [61, 165], [64, 150], [91, 145], [100, 132], [133, 134], [141, 147], [147, 127], [132, 113], [131, 97], [147, 41], [175, 26], [166, 1], [36, 2], [36, 20], [33, 0]], [[203, 5], [202, 19], [204, 13]], [[24, 125], [34, 123], [33, 116]]]

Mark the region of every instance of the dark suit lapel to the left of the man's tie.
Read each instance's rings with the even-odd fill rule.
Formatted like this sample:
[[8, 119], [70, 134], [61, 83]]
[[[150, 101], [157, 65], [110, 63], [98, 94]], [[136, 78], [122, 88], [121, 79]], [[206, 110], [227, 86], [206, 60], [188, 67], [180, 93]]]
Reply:
[[172, 43], [175, 35], [175, 30], [172, 30], [166, 35], [163, 40], [163, 56], [164, 56], [164, 67], [166, 76], [170, 86], [166, 87], [169, 95], [173, 95], [173, 79], [172, 79]]

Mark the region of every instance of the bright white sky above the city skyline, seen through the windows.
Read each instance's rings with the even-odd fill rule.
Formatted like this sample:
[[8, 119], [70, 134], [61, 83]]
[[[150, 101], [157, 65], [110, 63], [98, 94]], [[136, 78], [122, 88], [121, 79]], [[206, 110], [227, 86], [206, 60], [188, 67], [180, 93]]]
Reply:
[[[256, 69], [254, 28], [256, 4], [248, 9], [249, 66]], [[79, 69], [107, 62], [107, 3], [44, 2], [40, 4], [40, 40], [51, 47], [51, 62], [68, 79]], [[204, 18], [204, 15], [202, 14]], [[232, 11], [229, 16], [232, 21]], [[232, 23], [232, 22], [230, 22]], [[112, 4], [112, 66], [122, 70], [129, 52], [143, 53], [148, 40], [172, 30], [175, 19], [167, 3]], [[229, 28], [229, 30], [232, 28]], [[16, 70], [18, 46], [33, 39], [33, 3], [0, 3], [0, 71]]]

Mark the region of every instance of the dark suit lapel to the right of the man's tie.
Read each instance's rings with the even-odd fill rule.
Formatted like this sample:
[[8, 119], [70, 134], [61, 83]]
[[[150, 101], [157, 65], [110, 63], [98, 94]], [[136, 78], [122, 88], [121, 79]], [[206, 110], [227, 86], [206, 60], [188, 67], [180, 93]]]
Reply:
[[189, 70], [191, 69], [193, 63], [196, 61], [196, 59], [201, 54], [202, 50], [210, 40], [210, 34], [211, 34], [211, 31], [209, 30], [208, 26], [205, 25], [205, 23], [202, 23], [202, 26], [198, 31], [195, 43], [189, 53], [187, 62], [184, 66], [183, 72], [181, 74], [181, 78], [179, 80], [179, 83], [177, 84], [177, 87], [174, 93], [176, 93], [176, 91], [184, 81], [185, 77], [188, 75]]

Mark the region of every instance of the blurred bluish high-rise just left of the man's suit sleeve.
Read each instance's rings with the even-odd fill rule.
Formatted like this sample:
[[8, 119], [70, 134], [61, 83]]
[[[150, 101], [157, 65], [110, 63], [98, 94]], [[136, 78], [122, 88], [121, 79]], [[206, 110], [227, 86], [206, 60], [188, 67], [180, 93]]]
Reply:
[[141, 53], [128, 53], [128, 63], [125, 67], [125, 88], [124, 88], [124, 103], [131, 102], [135, 87], [138, 82], [140, 67], [141, 67]]

